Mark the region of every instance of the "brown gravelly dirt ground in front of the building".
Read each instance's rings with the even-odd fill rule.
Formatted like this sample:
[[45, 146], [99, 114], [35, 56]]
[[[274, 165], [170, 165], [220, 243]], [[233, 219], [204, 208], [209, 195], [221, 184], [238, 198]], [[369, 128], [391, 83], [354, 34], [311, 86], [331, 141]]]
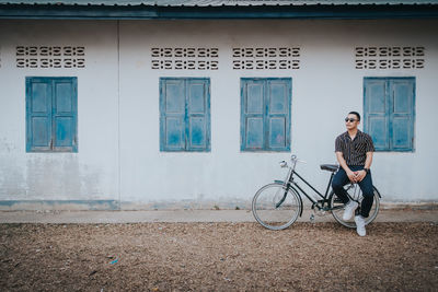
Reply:
[[0, 224], [1, 291], [438, 290], [438, 225]]

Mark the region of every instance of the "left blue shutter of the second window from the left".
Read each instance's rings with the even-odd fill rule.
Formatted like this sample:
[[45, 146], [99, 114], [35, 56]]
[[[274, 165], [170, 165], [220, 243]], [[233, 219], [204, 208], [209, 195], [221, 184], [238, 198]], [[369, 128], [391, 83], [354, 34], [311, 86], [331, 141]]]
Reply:
[[160, 150], [185, 149], [185, 81], [160, 80]]

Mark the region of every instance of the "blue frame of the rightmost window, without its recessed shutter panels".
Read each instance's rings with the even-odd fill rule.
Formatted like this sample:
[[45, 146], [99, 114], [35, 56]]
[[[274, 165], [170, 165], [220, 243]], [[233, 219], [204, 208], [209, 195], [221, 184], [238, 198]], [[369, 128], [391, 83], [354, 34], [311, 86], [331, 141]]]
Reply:
[[[407, 148], [396, 148], [393, 145], [392, 138], [393, 138], [393, 120], [394, 120], [394, 112], [391, 112], [391, 108], [394, 106], [394, 96], [391, 93], [391, 85], [394, 81], [412, 81], [412, 108], [410, 110], [411, 116], [411, 124], [410, 124], [410, 131], [411, 131], [411, 139], [410, 147]], [[415, 77], [365, 77], [364, 78], [364, 131], [368, 132], [370, 129], [369, 125], [369, 107], [367, 101], [367, 82], [370, 81], [382, 81], [385, 83], [384, 85], [384, 105], [385, 105], [385, 113], [384, 117], [388, 119], [387, 124], [387, 139], [388, 139], [388, 147], [381, 148], [374, 144], [374, 149], [377, 152], [415, 152], [415, 100], [416, 100], [416, 78]]]

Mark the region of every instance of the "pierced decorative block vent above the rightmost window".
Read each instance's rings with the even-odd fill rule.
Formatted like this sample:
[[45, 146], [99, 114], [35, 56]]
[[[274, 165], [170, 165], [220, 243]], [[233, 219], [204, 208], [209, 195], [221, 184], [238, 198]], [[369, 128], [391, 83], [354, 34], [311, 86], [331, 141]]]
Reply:
[[424, 47], [356, 47], [356, 69], [423, 69]]

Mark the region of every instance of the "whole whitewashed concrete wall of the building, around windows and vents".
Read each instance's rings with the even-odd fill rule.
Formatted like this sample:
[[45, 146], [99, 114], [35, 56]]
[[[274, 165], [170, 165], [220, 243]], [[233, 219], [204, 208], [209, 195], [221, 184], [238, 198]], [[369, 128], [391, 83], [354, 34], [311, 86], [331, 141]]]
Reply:
[[[376, 153], [373, 179], [387, 202], [437, 201], [431, 184], [438, 161], [431, 143], [438, 126], [437, 28], [438, 21], [430, 20], [1, 21], [0, 200], [85, 206], [93, 200], [105, 202], [102, 208], [122, 202], [123, 209], [244, 207], [257, 188], [286, 175], [277, 162], [290, 153], [240, 151], [242, 77], [292, 78], [291, 153], [308, 162], [298, 171], [324, 189], [328, 173], [319, 164], [335, 162], [334, 139], [345, 130], [346, 113], [362, 113], [364, 77], [415, 77], [415, 151]], [[85, 46], [87, 68], [15, 68], [15, 46], [58, 44]], [[231, 48], [245, 46], [299, 46], [301, 67], [233, 70]], [[357, 46], [423, 46], [426, 65], [357, 70]], [[151, 70], [152, 47], [217, 47], [219, 70]], [[79, 153], [25, 152], [27, 75], [78, 77]], [[160, 152], [160, 77], [210, 78], [211, 152]]]

